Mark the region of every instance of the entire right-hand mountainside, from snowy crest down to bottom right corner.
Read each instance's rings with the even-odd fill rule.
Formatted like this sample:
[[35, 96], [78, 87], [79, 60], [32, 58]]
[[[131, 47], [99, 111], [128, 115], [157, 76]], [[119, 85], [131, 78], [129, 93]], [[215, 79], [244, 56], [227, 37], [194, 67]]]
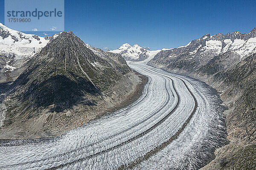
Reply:
[[256, 28], [248, 34], [206, 34], [161, 51], [149, 65], [201, 79], [220, 91], [230, 144], [217, 149], [216, 158], [202, 169], [255, 169]]

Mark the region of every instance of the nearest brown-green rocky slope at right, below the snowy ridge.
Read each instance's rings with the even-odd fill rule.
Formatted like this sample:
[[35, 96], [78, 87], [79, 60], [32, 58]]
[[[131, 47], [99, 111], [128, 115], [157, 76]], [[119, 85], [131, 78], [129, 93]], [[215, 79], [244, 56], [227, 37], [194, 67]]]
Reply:
[[[218, 58], [218, 57], [216, 57]], [[203, 169], [231, 170], [256, 168], [256, 53], [230, 68], [218, 69], [221, 61], [205, 66], [201, 74], [212, 70], [208, 83], [223, 90], [227, 106], [227, 139], [230, 144], [215, 151], [216, 159]], [[213, 69], [209, 69], [213, 68]]]

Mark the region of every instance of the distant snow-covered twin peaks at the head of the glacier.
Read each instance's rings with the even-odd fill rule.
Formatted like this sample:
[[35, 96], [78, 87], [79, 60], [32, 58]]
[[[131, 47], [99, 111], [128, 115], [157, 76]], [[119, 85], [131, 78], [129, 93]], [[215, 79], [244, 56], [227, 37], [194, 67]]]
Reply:
[[167, 50], [163, 48], [162, 50], [149, 50], [145, 47], [140, 47], [138, 44], [134, 44], [131, 46], [128, 43], [121, 45], [116, 50], [111, 50], [109, 52], [121, 54], [125, 60], [128, 61], [143, 61], [147, 59], [148, 61], [151, 60], [157, 53], [160, 51]]

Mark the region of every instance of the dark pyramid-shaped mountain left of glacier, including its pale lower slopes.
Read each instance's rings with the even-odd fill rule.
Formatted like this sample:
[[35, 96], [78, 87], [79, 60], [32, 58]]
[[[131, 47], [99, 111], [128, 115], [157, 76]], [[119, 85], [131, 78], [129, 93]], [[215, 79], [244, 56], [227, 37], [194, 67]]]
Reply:
[[55, 136], [96, 118], [135, 92], [140, 78], [120, 54], [62, 32], [2, 83], [6, 118], [0, 138]]

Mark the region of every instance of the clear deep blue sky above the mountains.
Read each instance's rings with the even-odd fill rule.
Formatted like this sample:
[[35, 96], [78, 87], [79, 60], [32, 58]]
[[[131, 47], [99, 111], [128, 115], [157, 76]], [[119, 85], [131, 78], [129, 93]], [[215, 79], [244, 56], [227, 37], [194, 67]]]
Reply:
[[[1, 23], [3, 10], [0, 0]], [[65, 31], [98, 48], [125, 42], [175, 48], [207, 33], [247, 33], [254, 27], [255, 0], [65, 0]]]

